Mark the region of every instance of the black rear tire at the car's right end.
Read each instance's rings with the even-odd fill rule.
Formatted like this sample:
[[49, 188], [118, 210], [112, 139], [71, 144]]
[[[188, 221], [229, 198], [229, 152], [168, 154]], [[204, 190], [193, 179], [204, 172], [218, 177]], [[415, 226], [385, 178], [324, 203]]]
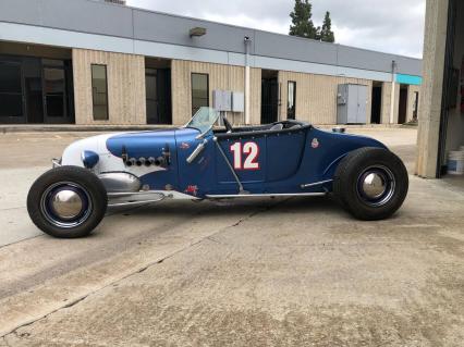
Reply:
[[[379, 197], [366, 194], [373, 174], [381, 182]], [[368, 178], [368, 176], [370, 177]], [[361, 148], [350, 152], [337, 168], [333, 179], [335, 199], [355, 218], [364, 221], [388, 219], [404, 202], [410, 181], [400, 158], [382, 148]], [[374, 186], [373, 186], [374, 187]]]

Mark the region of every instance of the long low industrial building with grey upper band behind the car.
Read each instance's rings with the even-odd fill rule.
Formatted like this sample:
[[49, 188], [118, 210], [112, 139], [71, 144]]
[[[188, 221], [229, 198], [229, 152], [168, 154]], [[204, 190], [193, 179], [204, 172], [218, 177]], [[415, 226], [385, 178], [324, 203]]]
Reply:
[[223, 91], [236, 124], [417, 119], [420, 60], [111, 2], [0, 2], [0, 124], [183, 124]]

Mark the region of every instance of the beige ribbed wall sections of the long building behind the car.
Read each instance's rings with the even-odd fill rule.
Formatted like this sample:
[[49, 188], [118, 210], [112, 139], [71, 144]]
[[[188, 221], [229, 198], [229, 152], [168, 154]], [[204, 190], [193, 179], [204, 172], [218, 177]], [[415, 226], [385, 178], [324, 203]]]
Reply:
[[[76, 124], [146, 124], [145, 58], [143, 55], [73, 49], [74, 98]], [[109, 120], [94, 121], [91, 98], [91, 64], [105, 64], [108, 72]], [[224, 64], [171, 61], [172, 120], [185, 124], [192, 116], [192, 73], [209, 76], [209, 106], [212, 90], [244, 91], [244, 67]], [[296, 82], [297, 120], [313, 124], [337, 123], [337, 92], [340, 84], [359, 84], [368, 88], [366, 120], [371, 119], [373, 80], [342, 76], [278, 72], [280, 92], [279, 119], [286, 119], [288, 82]], [[398, 122], [400, 85], [395, 88], [394, 122]], [[418, 87], [410, 86], [410, 98]], [[382, 85], [381, 122], [390, 123], [391, 83]], [[408, 120], [412, 119], [408, 102]], [[251, 120], [260, 124], [261, 70], [251, 70]], [[410, 114], [411, 113], [411, 114]], [[243, 113], [228, 114], [234, 124], [244, 124]]]

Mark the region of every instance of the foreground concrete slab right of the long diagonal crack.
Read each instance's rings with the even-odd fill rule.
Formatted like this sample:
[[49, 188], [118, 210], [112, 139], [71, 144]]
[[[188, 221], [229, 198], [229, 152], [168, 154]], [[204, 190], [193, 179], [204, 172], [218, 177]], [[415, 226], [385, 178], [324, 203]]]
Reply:
[[[422, 183], [413, 179], [413, 189]], [[450, 227], [427, 210], [410, 209], [414, 200], [406, 205], [393, 220], [363, 223], [326, 199], [284, 201], [7, 340], [460, 346], [464, 241], [445, 228], [459, 233], [463, 224]]]

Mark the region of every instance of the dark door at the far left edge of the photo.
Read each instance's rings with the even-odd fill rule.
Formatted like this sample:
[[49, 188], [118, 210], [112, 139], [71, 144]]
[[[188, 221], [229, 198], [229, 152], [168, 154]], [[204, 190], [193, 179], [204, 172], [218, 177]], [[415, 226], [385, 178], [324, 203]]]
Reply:
[[0, 123], [25, 123], [21, 62], [0, 60]]

